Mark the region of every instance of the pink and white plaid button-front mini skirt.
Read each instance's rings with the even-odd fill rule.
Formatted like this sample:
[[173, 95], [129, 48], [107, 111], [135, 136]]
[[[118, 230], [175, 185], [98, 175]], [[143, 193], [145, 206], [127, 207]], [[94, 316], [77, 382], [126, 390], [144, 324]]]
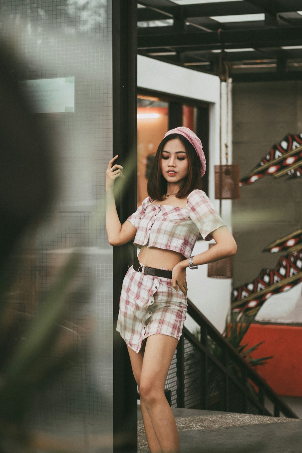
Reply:
[[156, 333], [179, 341], [186, 313], [187, 297], [181, 289], [173, 288], [172, 279], [144, 275], [129, 267], [120, 294], [116, 330], [131, 349], [139, 352], [144, 340]]

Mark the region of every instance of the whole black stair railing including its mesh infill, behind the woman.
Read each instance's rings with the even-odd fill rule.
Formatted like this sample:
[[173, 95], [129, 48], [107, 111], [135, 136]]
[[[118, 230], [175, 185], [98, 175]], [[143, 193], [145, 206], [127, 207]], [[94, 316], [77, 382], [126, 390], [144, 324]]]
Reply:
[[166, 381], [171, 405], [298, 418], [189, 299], [187, 304], [201, 340], [183, 328]]

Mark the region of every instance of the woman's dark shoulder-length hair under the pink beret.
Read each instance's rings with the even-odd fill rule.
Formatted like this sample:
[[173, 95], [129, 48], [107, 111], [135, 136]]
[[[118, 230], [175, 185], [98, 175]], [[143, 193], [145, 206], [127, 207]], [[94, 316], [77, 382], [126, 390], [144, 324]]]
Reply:
[[163, 195], [167, 193], [167, 180], [163, 177], [161, 170], [162, 151], [164, 146], [169, 140], [178, 139], [184, 145], [187, 151], [188, 159], [188, 173], [187, 178], [176, 194], [177, 198], [183, 198], [188, 195], [192, 190], [201, 188], [201, 161], [193, 145], [182, 135], [170, 134], [165, 137], [160, 144], [155, 155], [153, 166], [147, 184], [147, 191], [149, 197], [153, 200], [162, 200]]

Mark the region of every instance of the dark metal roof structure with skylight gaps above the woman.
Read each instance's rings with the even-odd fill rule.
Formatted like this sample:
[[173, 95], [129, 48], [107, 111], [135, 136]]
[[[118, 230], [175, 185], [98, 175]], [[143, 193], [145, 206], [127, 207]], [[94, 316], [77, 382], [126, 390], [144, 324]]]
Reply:
[[216, 75], [223, 57], [233, 82], [302, 80], [302, 0], [141, 0], [138, 6], [140, 55]]

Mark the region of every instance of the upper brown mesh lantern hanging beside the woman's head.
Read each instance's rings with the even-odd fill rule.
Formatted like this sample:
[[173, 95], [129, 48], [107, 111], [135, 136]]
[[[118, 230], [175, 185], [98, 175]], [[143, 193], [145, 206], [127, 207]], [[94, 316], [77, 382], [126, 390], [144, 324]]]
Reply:
[[235, 200], [240, 198], [240, 165], [215, 165], [215, 198]]

